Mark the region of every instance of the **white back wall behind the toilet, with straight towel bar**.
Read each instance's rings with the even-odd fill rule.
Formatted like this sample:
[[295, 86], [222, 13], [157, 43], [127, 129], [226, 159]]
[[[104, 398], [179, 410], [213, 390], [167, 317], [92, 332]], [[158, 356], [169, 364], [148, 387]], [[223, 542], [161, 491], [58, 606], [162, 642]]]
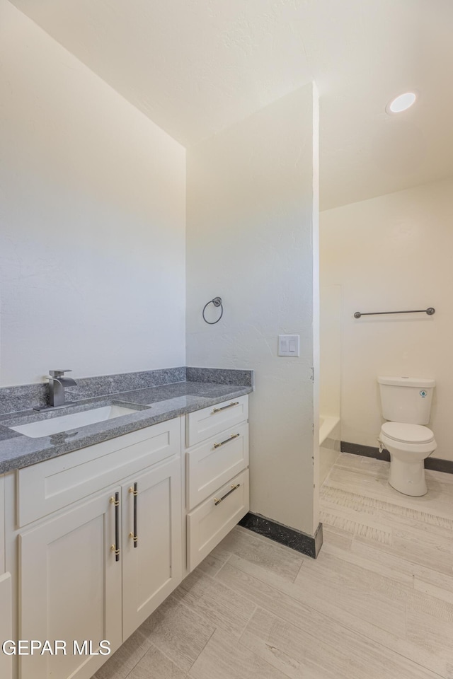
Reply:
[[434, 377], [435, 457], [453, 460], [453, 179], [324, 211], [320, 234], [321, 282], [343, 293], [343, 441], [377, 446], [378, 375]]

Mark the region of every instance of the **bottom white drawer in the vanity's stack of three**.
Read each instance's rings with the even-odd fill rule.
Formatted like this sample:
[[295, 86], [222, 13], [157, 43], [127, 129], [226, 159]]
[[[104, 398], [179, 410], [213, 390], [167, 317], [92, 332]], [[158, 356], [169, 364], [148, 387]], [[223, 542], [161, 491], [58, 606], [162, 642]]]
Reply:
[[[221, 501], [219, 501], [221, 500]], [[187, 517], [188, 569], [193, 569], [248, 512], [248, 469], [243, 470]]]

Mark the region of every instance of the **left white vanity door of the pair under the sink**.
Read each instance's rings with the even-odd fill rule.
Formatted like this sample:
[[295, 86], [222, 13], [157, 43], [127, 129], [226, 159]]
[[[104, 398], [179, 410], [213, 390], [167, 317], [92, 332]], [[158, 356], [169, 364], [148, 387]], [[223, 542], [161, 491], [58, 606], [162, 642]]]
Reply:
[[[119, 499], [118, 486], [19, 534], [19, 639], [57, 639], [67, 651], [21, 655], [21, 679], [88, 679], [107, 659], [98, 654], [99, 642], [110, 642], [112, 652], [122, 642], [122, 554], [112, 551], [116, 523], [120, 535], [115, 490]], [[83, 654], [74, 654], [74, 641]]]

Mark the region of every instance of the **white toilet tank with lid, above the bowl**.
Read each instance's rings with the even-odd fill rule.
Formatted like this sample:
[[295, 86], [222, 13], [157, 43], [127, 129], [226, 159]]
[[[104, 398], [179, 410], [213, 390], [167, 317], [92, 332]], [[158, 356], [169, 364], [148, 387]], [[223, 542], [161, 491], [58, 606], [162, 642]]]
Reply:
[[377, 381], [384, 419], [428, 424], [435, 380], [423, 377], [378, 377]]

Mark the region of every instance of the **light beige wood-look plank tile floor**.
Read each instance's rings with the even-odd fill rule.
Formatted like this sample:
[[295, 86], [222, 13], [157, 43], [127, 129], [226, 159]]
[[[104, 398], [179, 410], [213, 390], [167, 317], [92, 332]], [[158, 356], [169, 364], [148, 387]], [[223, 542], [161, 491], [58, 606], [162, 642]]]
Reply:
[[342, 453], [314, 561], [236, 527], [96, 679], [453, 679], [453, 475]]

